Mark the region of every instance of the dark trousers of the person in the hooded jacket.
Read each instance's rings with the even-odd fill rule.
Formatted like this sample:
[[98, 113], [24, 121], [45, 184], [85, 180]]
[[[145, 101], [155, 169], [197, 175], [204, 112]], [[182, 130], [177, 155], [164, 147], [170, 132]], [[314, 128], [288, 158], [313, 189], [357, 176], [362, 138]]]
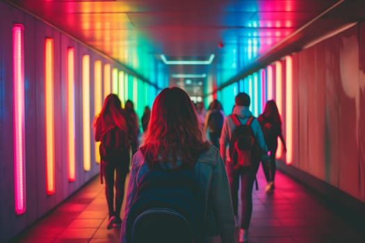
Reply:
[[241, 177], [241, 228], [248, 229], [252, 215], [252, 187], [256, 178], [257, 166], [254, 168], [240, 168], [234, 170], [233, 163], [227, 162], [227, 176], [231, 189], [234, 215], [238, 217], [238, 186]]

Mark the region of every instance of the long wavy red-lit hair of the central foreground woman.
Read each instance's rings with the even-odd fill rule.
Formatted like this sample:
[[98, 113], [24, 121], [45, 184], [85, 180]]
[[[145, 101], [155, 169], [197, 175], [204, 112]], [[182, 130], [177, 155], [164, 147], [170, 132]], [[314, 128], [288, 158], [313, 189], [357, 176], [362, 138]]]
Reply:
[[150, 165], [180, 159], [193, 166], [209, 143], [202, 137], [197, 113], [188, 94], [179, 87], [168, 87], [154, 100], [151, 118], [141, 148]]

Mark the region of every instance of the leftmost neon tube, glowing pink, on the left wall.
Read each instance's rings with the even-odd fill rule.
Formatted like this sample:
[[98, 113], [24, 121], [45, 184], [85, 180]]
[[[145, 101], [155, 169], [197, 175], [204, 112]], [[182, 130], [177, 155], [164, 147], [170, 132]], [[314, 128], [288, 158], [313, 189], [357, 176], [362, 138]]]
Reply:
[[24, 113], [24, 26], [13, 26], [13, 136], [15, 212], [26, 211], [25, 113]]

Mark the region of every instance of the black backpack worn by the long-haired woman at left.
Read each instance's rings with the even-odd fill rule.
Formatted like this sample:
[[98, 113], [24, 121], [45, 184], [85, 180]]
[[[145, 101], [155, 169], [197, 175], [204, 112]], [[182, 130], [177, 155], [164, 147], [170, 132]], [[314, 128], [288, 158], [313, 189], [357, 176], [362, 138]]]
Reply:
[[102, 134], [99, 152], [106, 164], [121, 162], [129, 164], [128, 135], [117, 126], [111, 126]]

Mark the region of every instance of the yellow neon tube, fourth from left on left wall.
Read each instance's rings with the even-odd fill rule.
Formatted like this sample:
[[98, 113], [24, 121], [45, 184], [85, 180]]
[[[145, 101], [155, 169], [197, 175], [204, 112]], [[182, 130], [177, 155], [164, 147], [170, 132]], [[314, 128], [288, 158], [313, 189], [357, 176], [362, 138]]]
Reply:
[[82, 58], [83, 90], [83, 169], [90, 171], [90, 56]]

